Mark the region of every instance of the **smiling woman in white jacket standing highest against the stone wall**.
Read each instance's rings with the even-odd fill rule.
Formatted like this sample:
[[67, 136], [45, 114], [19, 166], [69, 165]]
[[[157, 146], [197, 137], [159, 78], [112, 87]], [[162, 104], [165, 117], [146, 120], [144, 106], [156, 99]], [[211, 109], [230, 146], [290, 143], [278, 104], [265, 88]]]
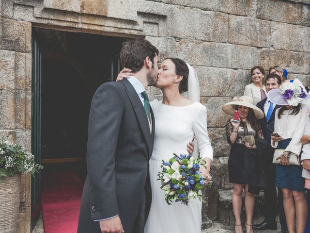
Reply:
[[263, 67], [256, 66], [251, 68], [251, 76], [253, 83], [246, 86], [244, 96], [251, 97], [254, 105], [256, 105], [259, 101], [267, 98], [266, 88], [263, 85], [263, 79], [265, 78]]

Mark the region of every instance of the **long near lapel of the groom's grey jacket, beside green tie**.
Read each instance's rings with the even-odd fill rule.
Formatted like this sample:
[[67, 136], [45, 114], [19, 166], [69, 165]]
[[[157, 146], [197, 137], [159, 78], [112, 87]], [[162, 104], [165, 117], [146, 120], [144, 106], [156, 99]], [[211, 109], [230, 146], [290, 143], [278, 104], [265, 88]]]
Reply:
[[[129, 81], [127, 79], [124, 79], [121, 82], [126, 87], [126, 89], [125, 89], [126, 93], [128, 95], [128, 98], [129, 98], [129, 100], [130, 100], [134, 110], [135, 110], [136, 116], [138, 118], [141, 130], [142, 130], [142, 132], [144, 134], [144, 137], [145, 137], [145, 140], [146, 140], [146, 144], [147, 144], [148, 149], [149, 149], [148, 151], [149, 151], [149, 154], [150, 154], [150, 150], [151, 150], [151, 146], [152, 146], [152, 137], [151, 137], [151, 132], [150, 132], [149, 120], [148, 120], [148, 118], [146, 116], [143, 104], [142, 104], [142, 102], [141, 102], [141, 100], [140, 100], [136, 90], [131, 85], [131, 83], [129, 83]], [[152, 125], [152, 127], [153, 127], [153, 125]], [[148, 154], [148, 156], [149, 156], [149, 154]]]

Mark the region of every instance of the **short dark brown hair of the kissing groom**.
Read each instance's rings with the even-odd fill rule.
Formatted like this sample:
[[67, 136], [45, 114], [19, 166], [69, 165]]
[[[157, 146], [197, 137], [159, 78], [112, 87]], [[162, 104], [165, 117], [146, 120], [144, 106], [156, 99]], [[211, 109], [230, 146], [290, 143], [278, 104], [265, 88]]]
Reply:
[[120, 53], [121, 63], [123, 68], [129, 68], [135, 73], [143, 67], [146, 57], [150, 57], [153, 68], [156, 54], [158, 55], [158, 50], [148, 40], [143, 38], [128, 40], [123, 43]]

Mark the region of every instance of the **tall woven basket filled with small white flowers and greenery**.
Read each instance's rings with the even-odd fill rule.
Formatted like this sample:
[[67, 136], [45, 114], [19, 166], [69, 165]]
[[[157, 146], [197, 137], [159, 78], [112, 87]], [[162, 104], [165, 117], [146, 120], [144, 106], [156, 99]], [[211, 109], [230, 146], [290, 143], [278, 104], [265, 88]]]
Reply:
[[22, 172], [32, 176], [43, 166], [22, 146], [0, 138], [0, 232], [15, 233], [18, 226]]

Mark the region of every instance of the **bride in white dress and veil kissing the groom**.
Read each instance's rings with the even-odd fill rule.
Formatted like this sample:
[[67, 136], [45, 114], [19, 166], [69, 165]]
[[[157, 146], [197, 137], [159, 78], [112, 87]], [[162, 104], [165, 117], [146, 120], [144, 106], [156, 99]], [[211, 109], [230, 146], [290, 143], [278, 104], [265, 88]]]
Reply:
[[[124, 68], [117, 81], [134, 76]], [[178, 58], [166, 58], [158, 70], [157, 83], [163, 101], [150, 104], [155, 116], [155, 140], [150, 159], [152, 205], [144, 233], [200, 233], [202, 228], [202, 202], [196, 199], [188, 206], [180, 202], [168, 205], [165, 192], [160, 189], [157, 173], [162, 160], [168, 161], [172, 153], [186, 153], [186, 144], [195, 138], [195, 149], [205, 161], [200, 172], [207, 182], [213, 159], [213, 150], [207, 132], [207, 111], [199, 102], [199, 83], [193, 67]], [[182, 95], [181, 95], [182, 93]], [[187, 97], [187, 98], [185, 98]], [[195, 150], [194, 149], [194, 150]], [[193, 155], [197, 156], [198, 151]]]

